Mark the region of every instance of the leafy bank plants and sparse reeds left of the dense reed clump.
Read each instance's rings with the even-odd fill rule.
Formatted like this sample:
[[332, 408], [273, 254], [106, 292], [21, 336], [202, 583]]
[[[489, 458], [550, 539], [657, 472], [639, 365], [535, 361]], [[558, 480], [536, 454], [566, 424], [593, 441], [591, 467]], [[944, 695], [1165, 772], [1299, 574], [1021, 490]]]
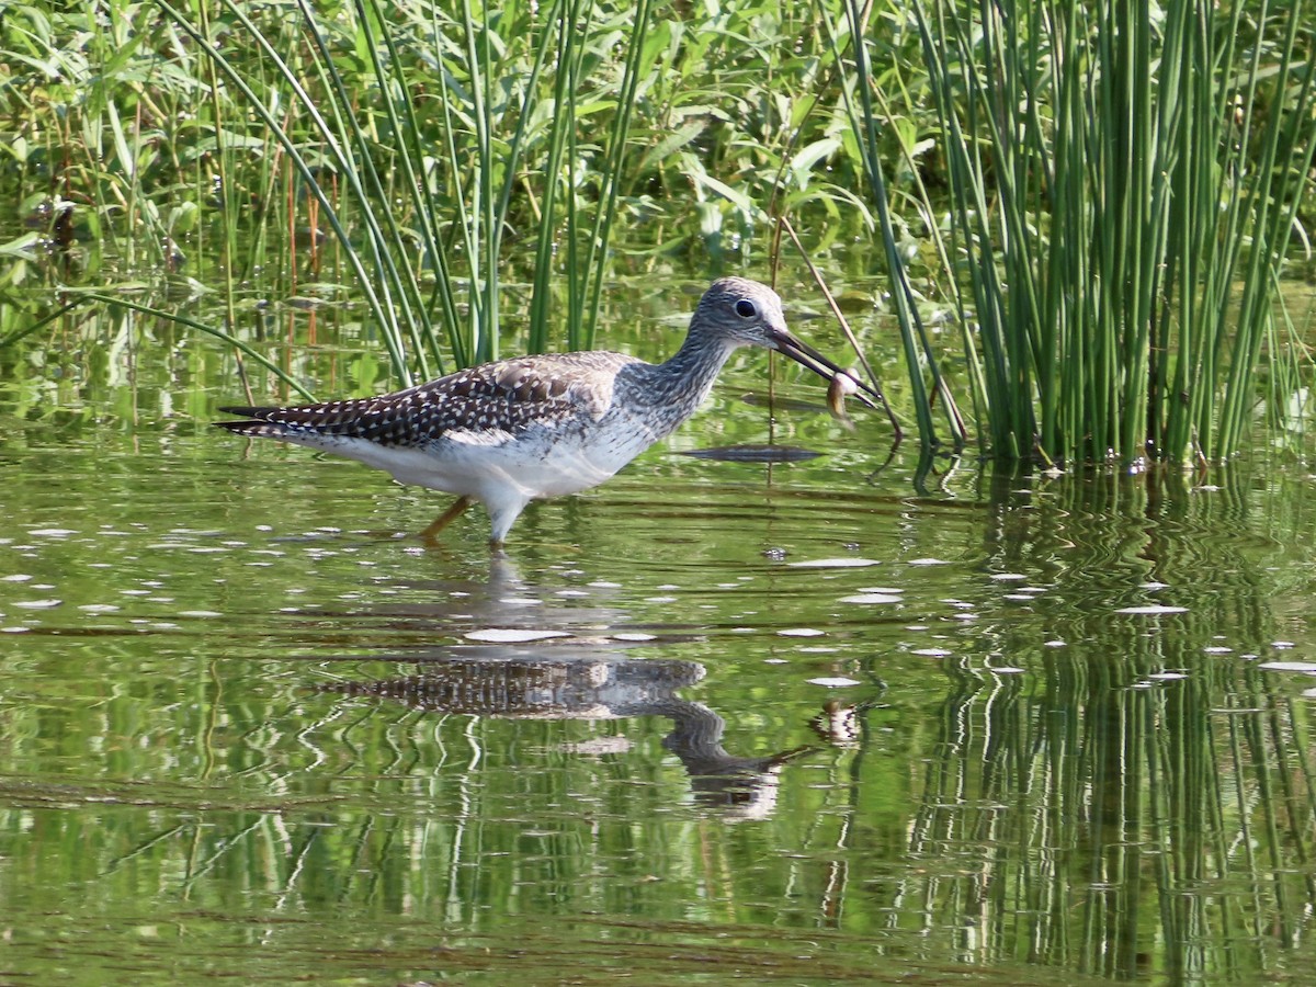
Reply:
[[[636, 221], [654, 255], [762, 274], [758, 203], [778, 190], [800, 229], [870, 218], [853, 141], [812, 111], [833, 76], [803, 12], [32, 3], [0, 43], [22, 70], [0, 145], [25, 168], [24, 211], [49, 199], [45, 170], [129, 278], [174, 271], [184, 247], [220, 272], [225, 332], [251, 282], [275, 297], [308, 278], [321, 296], [357, 286], [404, 382], [497, 354], [528, 254], [525, 347], [584, 347]], [[308, 254], [305, 228], [329, 242]]]

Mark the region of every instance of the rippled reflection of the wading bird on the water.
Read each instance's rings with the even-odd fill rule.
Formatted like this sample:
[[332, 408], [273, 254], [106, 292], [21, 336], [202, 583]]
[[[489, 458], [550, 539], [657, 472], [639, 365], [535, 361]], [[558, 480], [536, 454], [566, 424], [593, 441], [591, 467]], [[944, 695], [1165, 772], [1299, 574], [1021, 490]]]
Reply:
[[[726, 819], [763, 819], [776, 804], [783, 767], [817, 750], [801, 746], [766, 757], [736, 757], [722, 746], [726, 722], [708, 707], [682, 699], [678, 690], [704, 678], [704, 667], [674, 659], [625, 657], [629, 646], [615, 637], [625, 626], [622, 611], [608, 605], [607, 591], [570, 605], [555, 600], [551, 586], [526, 582], [505, 557], [490, 559], [483, 580], [411, 580], [399, 601], [357, 611], [393, 632], [425, 625], [492, 626], [509, 632], [559, 634], [551, 644], [463, 644], [430, 646], [371, 661], [420, 663], [416, 675], [366, 682], [337, 682], [321, 688], [353, 696], [379, 696], [434, 713], [517, 720], [617, 720], [662, 716], [672, 721], [663, 746], [690, 774], [696, 801]], [[324, 611], [316, 611], [316, 619]], [[603, 636], [579, 637], [582, 626], [609, 628]], [[679, 634], [663, 634], [671, 645]], [[651, 641], [649, 646], [658, 645]], [[362, 655], [366, 657], [366, 655]], [[866, 707], [865, 707], [866, 708]], [[829, 746], [850, 746], [862, 708], [828, 704], [809, 726]], [[599, 738], [569, 747], [580, 754], [625, 750], [622, 738]]]

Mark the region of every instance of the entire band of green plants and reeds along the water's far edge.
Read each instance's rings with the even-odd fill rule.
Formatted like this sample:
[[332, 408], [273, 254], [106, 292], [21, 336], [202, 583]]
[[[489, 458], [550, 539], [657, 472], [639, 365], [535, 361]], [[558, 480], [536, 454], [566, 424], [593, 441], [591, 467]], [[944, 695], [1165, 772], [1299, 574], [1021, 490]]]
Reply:
[[9, 5], [0, 188], [34, 228], [0, 347], [187, 254], [225, 338], [250, 284], [359, 297], [405, 383], [497, 355], [509, 308], [516, 349], [595, 345], [619, 257], [762, 275], [788, 218], [875, 247], [925, 447], [1220, 459], [1305, 412], [1275, 300], [1316, 212], [1307, 11]]

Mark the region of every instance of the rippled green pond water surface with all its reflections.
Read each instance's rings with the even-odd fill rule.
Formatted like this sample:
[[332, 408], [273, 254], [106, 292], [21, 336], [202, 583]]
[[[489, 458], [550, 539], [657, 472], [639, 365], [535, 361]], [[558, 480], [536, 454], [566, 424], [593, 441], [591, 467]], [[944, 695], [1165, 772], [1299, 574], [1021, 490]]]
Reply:
[[[759, 372], [680, 445], [763, 441]], [[0, 979], [1311, 973], [1305, 474], [916, 497], [791, 411], [828, 455], [654, 450], [491, 558], [351, 463], [21, 404]]]

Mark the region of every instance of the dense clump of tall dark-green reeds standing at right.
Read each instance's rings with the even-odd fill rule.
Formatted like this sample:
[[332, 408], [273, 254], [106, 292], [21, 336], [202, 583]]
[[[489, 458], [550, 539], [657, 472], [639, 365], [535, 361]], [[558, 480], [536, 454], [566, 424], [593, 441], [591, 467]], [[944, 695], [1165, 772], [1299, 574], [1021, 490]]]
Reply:
[[1241, 447], [1261, 363], [1296, 358], [1266, 342], [1316, 147], [1304, 8], [916, 0], [995, 457]]

